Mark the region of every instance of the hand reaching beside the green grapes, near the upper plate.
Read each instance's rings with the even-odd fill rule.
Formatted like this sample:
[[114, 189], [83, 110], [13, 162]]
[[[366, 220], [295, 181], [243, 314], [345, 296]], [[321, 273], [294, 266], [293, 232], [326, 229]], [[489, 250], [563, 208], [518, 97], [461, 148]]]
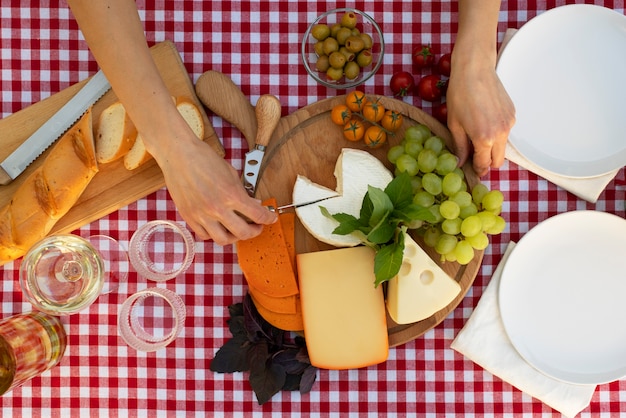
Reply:
[[453, 66], [447, 106], [459, 163], [467, 161], [473, 148], [473, 167], [479, 176], [500, 167], [515, 124], [515, 107], [495, 68]]

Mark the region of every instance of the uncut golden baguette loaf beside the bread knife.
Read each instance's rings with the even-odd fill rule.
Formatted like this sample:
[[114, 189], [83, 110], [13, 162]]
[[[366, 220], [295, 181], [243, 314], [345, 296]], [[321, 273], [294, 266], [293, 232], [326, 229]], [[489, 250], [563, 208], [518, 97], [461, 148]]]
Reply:
[[89, 109], [0, 209], [0, 264], [23, 256], [48, 235], [97, 172]]

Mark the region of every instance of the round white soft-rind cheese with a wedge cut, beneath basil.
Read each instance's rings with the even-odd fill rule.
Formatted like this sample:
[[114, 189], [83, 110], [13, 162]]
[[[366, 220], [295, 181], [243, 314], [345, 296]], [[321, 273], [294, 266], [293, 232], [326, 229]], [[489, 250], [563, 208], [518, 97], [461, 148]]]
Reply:
[[384, 189], [393, 180], [393, 175], [369, 152], [352, 148], [344, 148], [341, 151], [335, 164], [334, 175], [337, 179], [336, 191], [313, 183], [301, 175], [296, 178], [293, 187], [294, 203], [340, 195], [299, 207], [296, 214], [307, 231], [318, 240], [335, 247], [354, 247], [361, 244], [360, 239], [352, 235], [333, 234], [339, 222], [324, 216], [320, 206], [328, 209], [331, 214], [348, 213], [358, 217], [368, 186]]

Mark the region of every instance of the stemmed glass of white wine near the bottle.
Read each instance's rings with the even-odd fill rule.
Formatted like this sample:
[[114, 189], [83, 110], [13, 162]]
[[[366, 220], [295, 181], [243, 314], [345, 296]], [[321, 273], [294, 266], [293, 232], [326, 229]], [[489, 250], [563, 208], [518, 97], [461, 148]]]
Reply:
[[126, 279], [128, 268], [128, 255], [113, 238], [51, 235], [22, 259], [20, 286], [36, 309], [71, 315], [115, 290]]

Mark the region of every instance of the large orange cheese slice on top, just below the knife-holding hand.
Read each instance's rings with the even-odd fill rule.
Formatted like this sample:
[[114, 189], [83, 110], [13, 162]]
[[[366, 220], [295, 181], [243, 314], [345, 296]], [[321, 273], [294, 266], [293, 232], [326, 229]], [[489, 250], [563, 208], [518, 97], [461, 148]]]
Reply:
[[[264, 205], [277, 207], [276, 199]], [[282, 223], [265, 225], [263, 232], [237, 243], [239, 266], [248, 284], [271, 297], [298, 294], [298, 283], [286, 244]]]

